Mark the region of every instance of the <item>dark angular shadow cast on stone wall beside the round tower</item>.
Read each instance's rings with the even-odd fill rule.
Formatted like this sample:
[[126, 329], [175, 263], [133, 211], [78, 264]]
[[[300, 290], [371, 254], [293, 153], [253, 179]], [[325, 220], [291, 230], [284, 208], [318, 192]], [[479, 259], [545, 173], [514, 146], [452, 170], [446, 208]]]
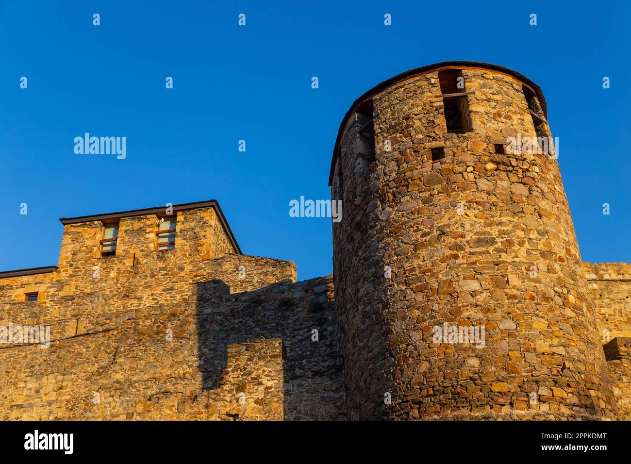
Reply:
[[[239, 349], [230, 345], [280, 339], [284, 419], [345, 419], [334, 301], [327, 299], [323, 290], [326, 285], [318, 285], [322, 283], [322, 279], [274, 283], [237, 294], [230, 294], [222, 280], [196, 283], [202, 389], [234, 390], [236, 401], [243, 388], [252, 388], [247, 385], [249, 381], [257, 381], [252, 374], [267, 356], [252, 360], [252, 366], [239, 372], [239, 381], [225, 383], [228, 349]], [[312, 340], [313, 330], [317, 330], [317, 341]]]

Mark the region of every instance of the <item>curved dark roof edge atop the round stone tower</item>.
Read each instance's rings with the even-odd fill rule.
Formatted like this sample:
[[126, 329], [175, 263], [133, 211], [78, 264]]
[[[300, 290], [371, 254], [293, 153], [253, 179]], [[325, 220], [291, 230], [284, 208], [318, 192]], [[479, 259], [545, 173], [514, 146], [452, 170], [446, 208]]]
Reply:
[[335, 169], [335, 162], [338, 158], [339, 143], [342, 138], [344, 126], [346, 124], [346, 121], [348, 121], [348, 118], [351, 116], [351, 114], [353, 114], [353, 112], [355, 112], [357, 107], [368, 98], [373, 97], [376, 93], [379, 93], [385, 88], [391, 85], [394, 85], [398, 81], [411, 78], [418, 74], [425, 74], [430, 71], [435, 71], [436, 69], [439, 69], [439, 68], [447, 68], [450, 66], [484, 68], [484, 69], [489, 69], [490, 71], [498, 71], [500, 73], [509, 74], [509, 76], [513, 76], [514, 78], [528, 85], [534, 90], [534, 93], [536, 93], [537, 98], [539, 99], [539, 103], [541, 104], [541, 109], [543, 110], [543, 114], [546, 117], [546, 119], [548, 119], [548, 107], [546, 105], [546, 100], [543, 97], [543, 92], [541, 92], [540, 86], [536, 85], [533, 81], [529, 80], [523, 74], [517, 73], [517, 71], [513, 71], [512, 69], [509, 69], [509, 68], [504, 68], [504, 66], [499, 66], [497, 64], [490, 64], [490, 63], [484, 63], [484, 62], [477, 62], [477, 61], [443, 61], [440, 63], [428, 64], [427, 66], [421, 66], [420, 68], [410, 69], [410, 71], [405, 71], [404, 73], [398, 74], [371, 88], [368, 92], [364, 93], [361, 97], [357, 98], [357, 100], [355, 100], [353, 105], [351, 105], [350, 109], [346, 112], [344, 119], [342, 119], [341, 124], [339, 124], [338, 136], [335, 140], [335, 146], [333, 147], [333, 157], [331, 159], [331, 170], [329, 172], [329, 187], [331, 186], [331, 184], [333, 184], [333, 170]]

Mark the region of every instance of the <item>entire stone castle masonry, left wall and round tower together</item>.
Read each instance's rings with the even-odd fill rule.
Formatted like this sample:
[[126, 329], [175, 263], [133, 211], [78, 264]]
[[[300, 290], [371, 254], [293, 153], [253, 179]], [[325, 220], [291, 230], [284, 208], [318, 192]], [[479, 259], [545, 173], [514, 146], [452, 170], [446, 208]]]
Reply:
[[73, 218], [57, 269], [0, 273], [0, 326], [51, 335], [0, 344], [0, 420], [631, 419], [631, 265], [581, 263], [557, 160], [507, 146], [550, 135], [524, 82], [457, 66], [445, 121], [442, 70], [343, 121], [334, 275], [241, 254], [196, 204], [174, 249], [155, 211], [119, 213], [108, 258]]

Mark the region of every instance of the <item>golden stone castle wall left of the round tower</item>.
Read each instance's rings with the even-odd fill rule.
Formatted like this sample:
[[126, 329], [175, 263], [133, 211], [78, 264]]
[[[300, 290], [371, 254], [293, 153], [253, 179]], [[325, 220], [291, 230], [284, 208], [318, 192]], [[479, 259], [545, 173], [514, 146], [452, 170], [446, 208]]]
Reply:
[[333, 277], [225, 253], [208, 212], [179, 211], [165, 251], [124, 218], [111, 258], [100, 223], [66, 225], [59, 270], [0, 278], [0, 325], [51, 336], [0, 344], [0, 419], [343, 419]]

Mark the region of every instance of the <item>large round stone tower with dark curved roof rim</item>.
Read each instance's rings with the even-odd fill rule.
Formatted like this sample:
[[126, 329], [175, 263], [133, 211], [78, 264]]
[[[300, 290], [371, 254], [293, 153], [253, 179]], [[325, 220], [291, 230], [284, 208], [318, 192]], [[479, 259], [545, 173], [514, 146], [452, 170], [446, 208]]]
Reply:
[[533, 82], [462, 61], [346, 114], [329, 185], [349, 419], [615, 419], [546, 119]]

